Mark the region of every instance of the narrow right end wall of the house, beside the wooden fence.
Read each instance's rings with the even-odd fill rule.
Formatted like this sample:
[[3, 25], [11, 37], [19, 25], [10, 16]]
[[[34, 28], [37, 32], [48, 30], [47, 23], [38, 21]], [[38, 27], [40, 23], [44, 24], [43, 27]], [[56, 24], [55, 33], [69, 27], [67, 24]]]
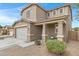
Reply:
[[68, 33], [71, 31], [71, 25], [72, 25], [72, 19], [71, 19], [71, 10], [69, 7], [65, 8], [65, 12], [67, 12], [68, 17], [65, 19], [66, 20], [66, 29], [65, 29], [65, 40], [68, 41]]

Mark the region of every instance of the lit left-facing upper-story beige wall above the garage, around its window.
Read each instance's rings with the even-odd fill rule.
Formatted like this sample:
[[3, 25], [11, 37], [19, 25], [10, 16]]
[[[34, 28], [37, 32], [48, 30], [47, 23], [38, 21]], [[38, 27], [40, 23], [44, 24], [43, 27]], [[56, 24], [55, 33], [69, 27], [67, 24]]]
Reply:
[[[29, 10], [30, 10], [30, 18], [26, 17], [27, 11]], [[30, 21], [36, 22], [36, 6], [33, 5], [29, 7], [28, 9], [24, 10], [22, 13], [22, 18], [24, 20], [30, 20]]]

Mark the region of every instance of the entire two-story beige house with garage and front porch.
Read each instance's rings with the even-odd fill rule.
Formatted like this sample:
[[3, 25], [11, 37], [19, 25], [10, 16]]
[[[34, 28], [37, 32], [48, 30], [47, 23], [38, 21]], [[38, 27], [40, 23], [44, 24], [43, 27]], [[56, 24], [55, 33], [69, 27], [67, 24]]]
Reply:
[[14, 24], [15, 37], [19, 40], [29, 42], [48, 37], [68, 40], [72, 21], [70, 5], [46, 11], [37, 4], [30, 4], [22, 9], [21, 18]]

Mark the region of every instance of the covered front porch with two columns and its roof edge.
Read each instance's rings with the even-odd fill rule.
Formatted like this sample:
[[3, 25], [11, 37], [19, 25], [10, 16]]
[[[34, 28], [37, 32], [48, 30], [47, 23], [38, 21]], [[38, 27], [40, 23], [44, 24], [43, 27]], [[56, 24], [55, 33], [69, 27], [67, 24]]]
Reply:
[[65, 37], [65, 21], [51, 21], [38, 23], [35, 25], [41, 26], [41, 37], [42, 40], [45, 41], [47, 38], [57, 38], [60, 41], [64, 40]]

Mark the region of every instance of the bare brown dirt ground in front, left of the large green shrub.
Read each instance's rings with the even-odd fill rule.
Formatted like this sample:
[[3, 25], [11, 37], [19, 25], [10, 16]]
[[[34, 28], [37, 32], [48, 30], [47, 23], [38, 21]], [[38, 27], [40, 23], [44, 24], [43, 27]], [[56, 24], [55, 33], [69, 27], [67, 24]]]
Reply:
[[32, 45], [26, 48], [13, 46], [0, 51], [1, 56], [50, 56], [54, 55], [48, 52], [44, 46]]

